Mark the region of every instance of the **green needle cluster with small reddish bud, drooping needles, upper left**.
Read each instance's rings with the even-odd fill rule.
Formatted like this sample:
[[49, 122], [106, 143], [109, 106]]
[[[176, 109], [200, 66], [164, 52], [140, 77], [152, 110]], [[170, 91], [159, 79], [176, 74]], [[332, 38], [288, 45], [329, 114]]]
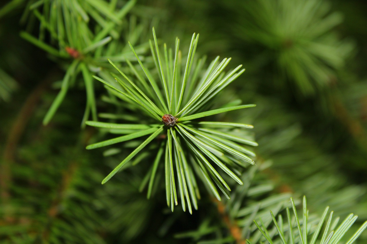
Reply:
[[[36, 18], [39, 21], [39, 37], [33, 37], [28, 32], [21, 32], [21, 37], [66, 66], [65, 77], [61, 84], [56, 85], [60, 91], [44, 118], [45, 125], [54, 116], [68, 90], [74, 86], [84, 86], [86, 89], [87, 105], [82, 125], [90, 118], [90, 114], [93, 120], [97, 120], [95, 88], [91, 76], [96, 72], [108, 73], [105, 70], [107, 58], [124, 61], [134, 57], [128, 51], [126, 40], [134, 44], [146, 28], [146, 24], [137, 23], [135, 16], [131, 16], [127, 23], [126, 15], [134, 5], [135, 0], [128, 1], [122, 7], [117, 6], [117, 1], [108, 3], [104, 0], [28, 3], [23, 18]], [[136, 51], [141, 53], [146, 49], [147, 45], [142, 44]], [[84, 84], [80, 85], [79, 82]]]

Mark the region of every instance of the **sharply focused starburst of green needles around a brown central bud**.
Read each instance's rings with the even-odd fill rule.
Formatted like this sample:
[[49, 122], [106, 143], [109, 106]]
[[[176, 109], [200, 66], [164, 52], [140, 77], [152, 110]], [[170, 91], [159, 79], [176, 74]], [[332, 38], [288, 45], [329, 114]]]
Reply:
[[[226, 104], [214, 110], [207, 110], [218, 93], [242, 74], [244, 69], [241, 69], [240, 65], [225, 74], [223, 71], [230, 58], [225, 58], [218, 64], [219, 57], [217, 57], [205, 70], [203, 68], [205, 58], [199, 60], [194, 58], [199, 39], [199, 34], [196, 36], [194, 33], [190, 42], [186, 64], [182, 65], [183, 74], [181, 75], [182, 55], [179, 51], [179, 39], [176, 38], [173, 56], [172, 50], [167, 49], [166, 44], [164, 44], [163, 55], [161, 54], [154, 28], [153, 38], [154, 42], [150, 41], [150, 48], [160, 81], [153, 78], [153, 70], [151, 72], [146, 68], [130, 43], [132, 52], [140, 65], [136, 68], [130, 62], [127, 62], [137, 78], [135, 82], [111, 61], [110, 63], [124, 79], [116, 74], [111, 74], [116, 82], [108, 82], [107, 79], [94, 77], [104, 83], [106, 88], [114, 95], [126, 101], [130, 107], [133, 106], [135, 111], [142, 111], [142, 115], [146, 116], [143, 120], [145, 123], [119, 124], [88, 121], [88, 125], [114, 129], [115, 133], [118, 129], [120, 133], [125, 135], [89, 145], [87, 149], [150, 135], [102, 181], [102, 184], [104, 184], [148, 143], [164, 133], [164, 136], [159, 137], [160, 139], [164, 138], [164, 140], [157, 140], [160, 143], [156, 143], [155, 160], [146, 177], [147, 184], [149, 179], [148, 198], [152, 193], [153, 182], [157, 178], [157, 169], [161, 164], [164, 164], [167, 205], [173, 211], [174, 205], [178, 204], [178, 193], [176, 191], [178, 182], [182, 208], [185, 211], [186, 198], [188, 209], [192, 213], [191, 202], [197, 209], [197, 199], [200, 198], [194, 172], [218, 200], [221, 197], [217, 187], [229, 198], [228, 191], [230, 191], [230, 188], [215, 167], [219, 167], [239, 184], [243, 184], [237, 176], [237, 174], [240, 174], [237, 169], [246, 167], [248, 165], [246, 163], [254, 164], [254, 161], [247, 155], [255, 156], [243, 144], [257, 145], [254, 141], [230, 133], [230, 129], [235, 127], [252, 128], [252, 125], [196, 121], [196, 119], [241, 108], [254, 107], [255, 105], [233, 106], [233, 104]], [[145, 74], [148, 82], [142, 77], [141, 73]], [[236, 174], [227, 166], [231, 167], [232, 170], [236, 170]]]

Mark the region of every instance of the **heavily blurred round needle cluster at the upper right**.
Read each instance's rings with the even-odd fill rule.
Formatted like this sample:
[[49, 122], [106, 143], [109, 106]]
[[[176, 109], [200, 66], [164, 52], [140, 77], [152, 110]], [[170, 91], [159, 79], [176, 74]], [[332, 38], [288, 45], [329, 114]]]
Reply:
[[241, 18], [234, 33], [263, 47], [262, 65], [279, 70], [275, 86], [288, 81], [304, 95], [324, 90], [333, 85], [354, 47], [332, 31], [343, 18], [330, 13], [326, 1], [246, 1], [237, 10]]

